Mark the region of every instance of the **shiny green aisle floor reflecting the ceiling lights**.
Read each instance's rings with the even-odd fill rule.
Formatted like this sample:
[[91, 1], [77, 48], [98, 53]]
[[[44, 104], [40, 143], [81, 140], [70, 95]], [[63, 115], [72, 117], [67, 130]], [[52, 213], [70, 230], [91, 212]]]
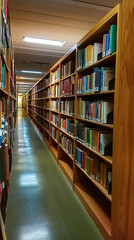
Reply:
[[30, 120], [18, 111], [7, 240], [102, 240]]

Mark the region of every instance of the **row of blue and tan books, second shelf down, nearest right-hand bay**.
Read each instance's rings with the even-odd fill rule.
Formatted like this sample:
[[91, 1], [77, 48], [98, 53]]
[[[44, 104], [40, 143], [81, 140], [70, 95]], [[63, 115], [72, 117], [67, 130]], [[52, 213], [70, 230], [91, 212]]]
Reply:
[[115, 84], [115, 70], [110, 67], [94, 68], [90, 75], [78, 78], [77, 93], [94, 93], [113, 90]]

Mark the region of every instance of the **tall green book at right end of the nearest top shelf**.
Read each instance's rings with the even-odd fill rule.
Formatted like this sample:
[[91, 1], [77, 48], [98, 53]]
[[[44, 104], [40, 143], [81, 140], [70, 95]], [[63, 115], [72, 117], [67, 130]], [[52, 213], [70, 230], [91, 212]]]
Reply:
[[110, 26], [110, 54], [116, 51], [117, 25]]

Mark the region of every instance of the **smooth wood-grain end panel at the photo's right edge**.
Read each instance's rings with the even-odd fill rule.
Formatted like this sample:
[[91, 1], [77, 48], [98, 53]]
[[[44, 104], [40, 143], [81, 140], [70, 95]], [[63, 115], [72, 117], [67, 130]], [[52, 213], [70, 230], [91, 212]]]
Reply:
[[[112, 240], [134, 239], [134, 1], [123, 2], [120, 79], [116, 95]], [[119, 66], [118, 66], [119, 67]]]

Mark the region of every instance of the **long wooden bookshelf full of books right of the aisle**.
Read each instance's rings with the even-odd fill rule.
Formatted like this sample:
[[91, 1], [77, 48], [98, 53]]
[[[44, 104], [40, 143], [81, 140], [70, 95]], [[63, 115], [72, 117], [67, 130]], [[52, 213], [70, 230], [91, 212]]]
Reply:
[[50, 69], [42, 99], [34, 95], [42, 79], [28, 97], [29, 117], [105, 239], [112, 239], [120, 21], [121, 4]]

